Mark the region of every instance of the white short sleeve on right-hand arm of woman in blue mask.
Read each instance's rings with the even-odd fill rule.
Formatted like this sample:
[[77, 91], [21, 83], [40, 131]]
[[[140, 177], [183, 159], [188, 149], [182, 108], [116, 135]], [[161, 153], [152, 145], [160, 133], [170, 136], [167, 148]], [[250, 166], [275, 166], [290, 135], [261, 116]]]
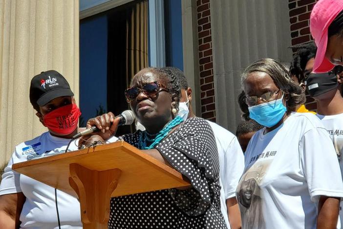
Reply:
[[335, 148], [323, 128], [306, 132], [300, 140], [300, 160], [311, 200], [343, 197], [343, 182]]

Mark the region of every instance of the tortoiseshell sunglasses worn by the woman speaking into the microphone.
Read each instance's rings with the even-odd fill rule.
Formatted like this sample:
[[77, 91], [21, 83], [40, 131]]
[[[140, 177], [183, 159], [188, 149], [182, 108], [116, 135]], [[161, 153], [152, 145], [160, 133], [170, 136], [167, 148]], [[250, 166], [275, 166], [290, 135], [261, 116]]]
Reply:
[[138, 88], [138, 87], [128, 88], [127, 90], [125, 90], [125, 97], [126, 97], [126, 101], [130, 103], [132, 100], [136, 99], [136, 97], [138, 96], [140, 92], [143, 92], [145, 95], [149, 96], [150, 98], [155, 98], [157, 94], [162, 90], [169, 92], [166, 89], [166, 87], [163, 84], [161, 84], [159, 81], [154, 81], [154, 82], [149, 82], [145, 84], [142, 88]]

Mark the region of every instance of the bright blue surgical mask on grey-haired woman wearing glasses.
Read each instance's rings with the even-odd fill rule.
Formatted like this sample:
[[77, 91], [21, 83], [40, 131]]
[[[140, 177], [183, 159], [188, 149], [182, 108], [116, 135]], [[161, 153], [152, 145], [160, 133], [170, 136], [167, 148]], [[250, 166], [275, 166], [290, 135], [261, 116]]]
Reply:
[[254, 119], [262, 126], [275, 126], [287, 111], [282, 103], [282, 98], [249, 107], [250, 118]]

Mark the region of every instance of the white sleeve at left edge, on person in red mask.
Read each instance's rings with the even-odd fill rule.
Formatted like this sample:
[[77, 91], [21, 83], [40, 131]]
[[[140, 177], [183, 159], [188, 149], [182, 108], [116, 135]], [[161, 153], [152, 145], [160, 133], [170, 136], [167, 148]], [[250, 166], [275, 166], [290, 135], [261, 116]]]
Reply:
[[0, 196], [21, 192], [19, 183], [20, 173], [12, 170], [12, 164], [18, 162], [21, 162], [21, 160], [19, 160], [17, 153], [14, 152], [4, 169], [4, 173], [2, 174], [2, 180], [0, 183]]

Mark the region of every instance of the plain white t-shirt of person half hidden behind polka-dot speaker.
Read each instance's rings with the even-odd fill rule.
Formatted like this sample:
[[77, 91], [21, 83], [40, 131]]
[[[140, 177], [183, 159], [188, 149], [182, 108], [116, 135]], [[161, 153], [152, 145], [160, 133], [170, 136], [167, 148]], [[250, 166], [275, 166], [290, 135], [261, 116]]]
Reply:
[[208, 123], [214, 132], [219, 156], [220, 209], [230, 229], [226, 200], [236, 195], [244, 170], [244, 155], [235, 135], [214, 122]]

